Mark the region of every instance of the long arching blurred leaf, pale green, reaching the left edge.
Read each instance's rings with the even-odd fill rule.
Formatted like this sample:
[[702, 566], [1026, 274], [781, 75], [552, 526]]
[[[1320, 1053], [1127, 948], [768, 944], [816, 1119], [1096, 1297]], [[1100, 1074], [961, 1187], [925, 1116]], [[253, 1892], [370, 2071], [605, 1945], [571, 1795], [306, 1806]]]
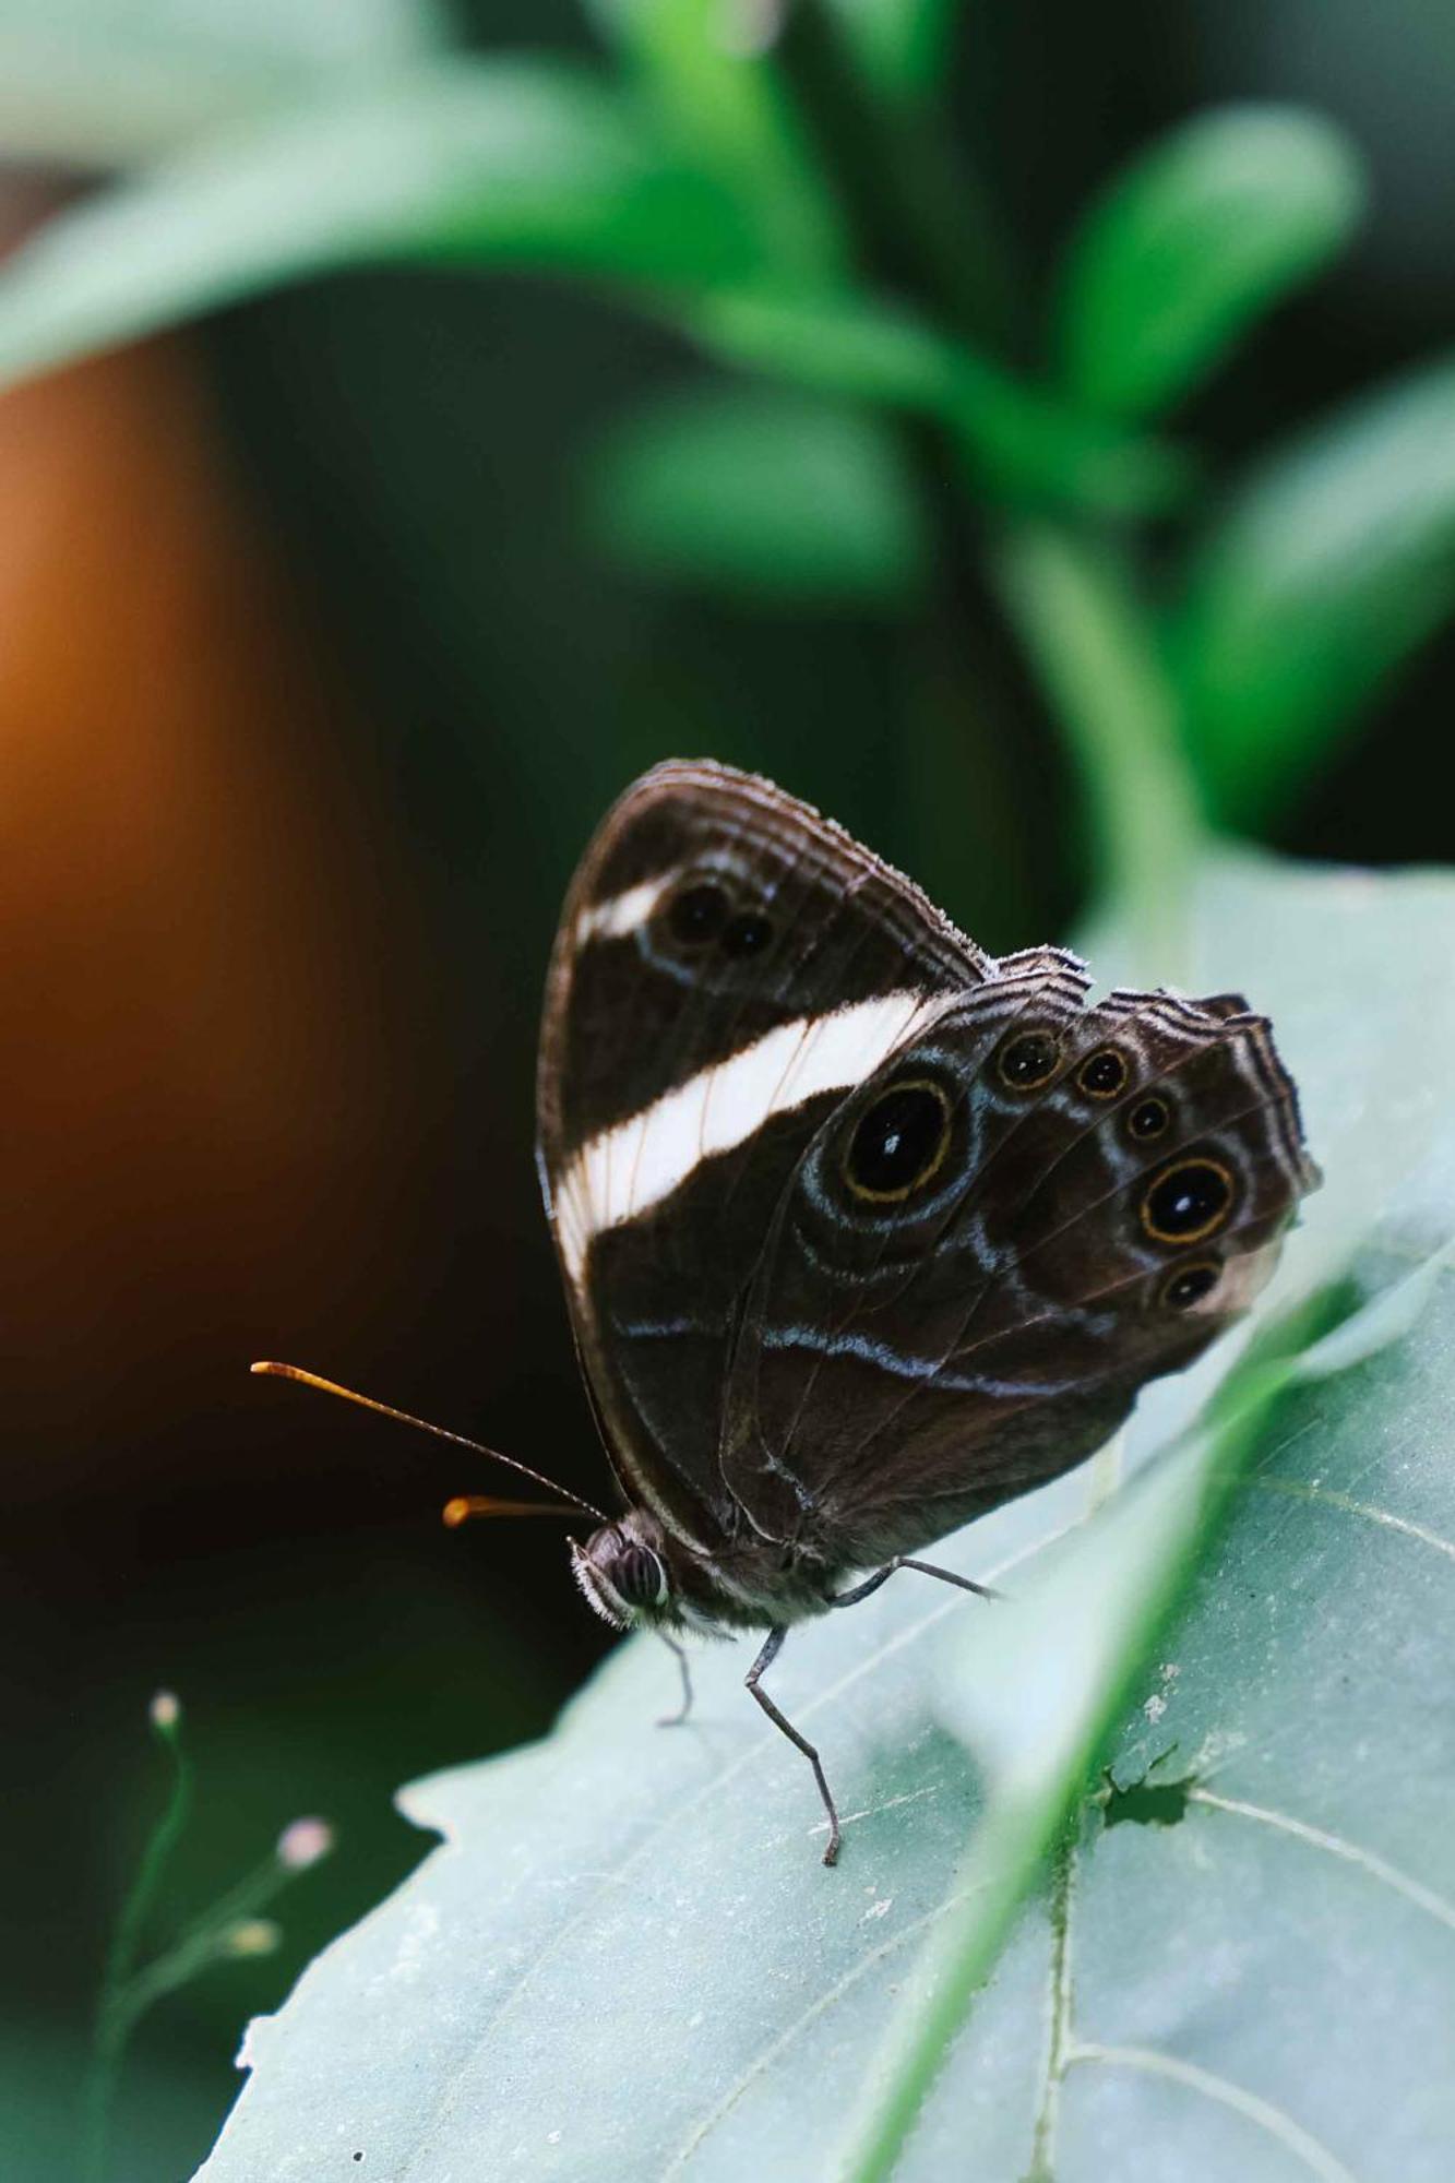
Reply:
[[319, 100], [52, 218], [0, 271], [0, 380], [332, 266], [743, 279], [732, 199], [601, 79], [457, 61]]

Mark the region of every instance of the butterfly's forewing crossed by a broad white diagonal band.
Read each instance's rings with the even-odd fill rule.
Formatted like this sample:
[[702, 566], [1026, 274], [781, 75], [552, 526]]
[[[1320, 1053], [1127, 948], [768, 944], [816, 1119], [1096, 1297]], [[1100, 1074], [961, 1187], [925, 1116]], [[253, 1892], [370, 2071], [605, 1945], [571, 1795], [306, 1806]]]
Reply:
[[703, 1543], [728, 1356], [804, 1148], [990, 961], [767, 782], [669, 764], [607, 814], [553, 954], [540, 1155], [623, 1484]]

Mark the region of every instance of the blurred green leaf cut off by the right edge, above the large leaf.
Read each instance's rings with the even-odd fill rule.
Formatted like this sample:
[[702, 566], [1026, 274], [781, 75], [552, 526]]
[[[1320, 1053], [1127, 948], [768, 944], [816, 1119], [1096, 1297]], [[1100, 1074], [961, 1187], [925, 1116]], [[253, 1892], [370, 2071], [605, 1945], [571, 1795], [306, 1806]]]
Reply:
[[1208, 801], [1265, 823], [1455, 605], [1455, 362], [1269, 456], [1195, 548], [1171, 618]]

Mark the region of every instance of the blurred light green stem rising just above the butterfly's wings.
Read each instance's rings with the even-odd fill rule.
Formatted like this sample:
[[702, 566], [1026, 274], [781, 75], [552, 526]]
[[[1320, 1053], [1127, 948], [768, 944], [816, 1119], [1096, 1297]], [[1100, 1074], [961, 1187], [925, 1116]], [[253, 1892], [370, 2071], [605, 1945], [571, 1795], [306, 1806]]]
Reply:
[[1051, 522], [1012, 526], [992, 574], [1081, 775], [1099, 906], [1127, 919], [1147, 971], [1182, 976], [1202, 821], [1134, 585], [1110, 548]]

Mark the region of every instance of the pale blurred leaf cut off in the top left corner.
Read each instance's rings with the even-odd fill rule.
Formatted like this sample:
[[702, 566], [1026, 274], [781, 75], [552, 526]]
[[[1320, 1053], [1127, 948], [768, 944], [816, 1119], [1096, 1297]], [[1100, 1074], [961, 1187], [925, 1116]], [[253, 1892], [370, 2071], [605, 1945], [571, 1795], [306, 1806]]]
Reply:
[[0, 0], [0, 146], [114, 166], [446, 44], [435, 0]]

